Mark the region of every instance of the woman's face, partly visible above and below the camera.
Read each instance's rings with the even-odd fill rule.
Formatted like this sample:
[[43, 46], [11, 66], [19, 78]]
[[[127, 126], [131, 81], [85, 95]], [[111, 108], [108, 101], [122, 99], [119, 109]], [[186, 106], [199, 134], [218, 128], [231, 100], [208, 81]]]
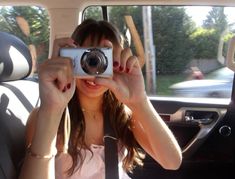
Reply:
[[[99, 43], [94, 43], [90, 39], [91, 38], [87, 38], [84, 41], [82, 47], [100, 47]], [[108, 90], [108, 88], [104, 86], [95, 84], [94, 78], [88, 78], [88, 79], [77, 78], [76, 84], [80, 95], [85, 95], [91, 98], [102, 97], [104, 92]]]

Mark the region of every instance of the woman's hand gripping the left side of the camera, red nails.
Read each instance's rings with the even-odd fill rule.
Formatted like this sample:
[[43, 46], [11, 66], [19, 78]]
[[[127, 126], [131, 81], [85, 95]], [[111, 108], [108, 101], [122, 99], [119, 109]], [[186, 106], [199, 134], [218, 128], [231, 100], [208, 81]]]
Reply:
[[72, 61], [58, 57], [62, 47], [75, 47], [70, 38], [54, 41], [52, 59], [39, 65], [39, 90], [41, 108], [47, 110], [64, 110], [75, 90]]

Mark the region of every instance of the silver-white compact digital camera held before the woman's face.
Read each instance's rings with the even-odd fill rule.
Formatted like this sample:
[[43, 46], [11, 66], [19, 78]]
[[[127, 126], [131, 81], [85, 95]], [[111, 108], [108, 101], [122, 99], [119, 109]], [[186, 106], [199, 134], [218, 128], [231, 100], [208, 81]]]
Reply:
[[62, 48], [60, 56], [72, 59], [74, 75], [78, 78], [113, 75], [112, 48]]

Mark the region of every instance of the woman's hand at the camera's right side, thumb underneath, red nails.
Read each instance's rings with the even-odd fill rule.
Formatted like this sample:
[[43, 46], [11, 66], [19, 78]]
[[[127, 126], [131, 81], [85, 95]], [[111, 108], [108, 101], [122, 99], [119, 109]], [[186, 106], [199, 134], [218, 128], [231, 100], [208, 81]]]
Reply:
[[[110, 41], [102, 42], [103, 46], [111, 47]], [[146, 98], [145, 86], [138, 58], [133, 56], [130, 48], [113, 46], [112, 79], [96, 78], [95, 83], [108, 87], [126, 105], [136, 104]]]

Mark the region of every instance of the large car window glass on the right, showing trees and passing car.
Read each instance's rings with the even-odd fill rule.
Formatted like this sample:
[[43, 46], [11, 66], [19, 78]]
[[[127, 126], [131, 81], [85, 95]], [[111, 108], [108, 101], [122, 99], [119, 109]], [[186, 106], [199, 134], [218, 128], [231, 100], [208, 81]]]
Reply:
[[[102, 19], [101, 8], [84, 13]], [[230, 98], [233, 72], [224, 66], [234, 13], [218, 6], [108, 7], [109, 21], [124, 36], [124, 16], [132, 16], [145, 49], [146, 90], [157, 96]]]

